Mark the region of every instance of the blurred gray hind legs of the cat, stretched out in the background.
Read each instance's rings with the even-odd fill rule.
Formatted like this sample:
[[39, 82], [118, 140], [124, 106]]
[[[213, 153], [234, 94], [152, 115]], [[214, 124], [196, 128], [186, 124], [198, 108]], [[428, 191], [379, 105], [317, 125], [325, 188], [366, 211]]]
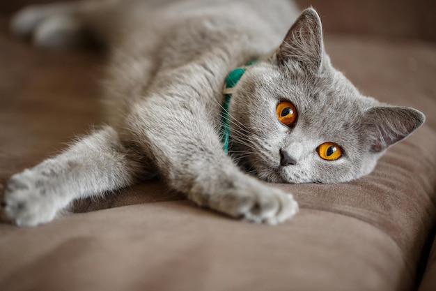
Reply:
[[33, 45], [47, 49], [84, 47], [107, 42], [114, 32], [118, 0], [85, 0], [26, 6], [13, 16], [10, 30]]

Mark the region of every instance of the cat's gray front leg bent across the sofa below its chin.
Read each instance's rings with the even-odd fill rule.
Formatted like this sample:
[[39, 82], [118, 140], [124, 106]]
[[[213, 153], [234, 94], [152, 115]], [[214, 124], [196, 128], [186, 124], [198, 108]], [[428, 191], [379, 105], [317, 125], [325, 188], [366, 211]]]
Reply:
[[200, 206], [256, 223], [282, 223], [297, 213], [293, 195], [245, 174], [224, 153], [209, 110], [178, 98], [166, 107], [164, 99], [154, 103], [150, 97], [137, 106], [129, 128], [155, 154], [159, 174], [172, 188]]

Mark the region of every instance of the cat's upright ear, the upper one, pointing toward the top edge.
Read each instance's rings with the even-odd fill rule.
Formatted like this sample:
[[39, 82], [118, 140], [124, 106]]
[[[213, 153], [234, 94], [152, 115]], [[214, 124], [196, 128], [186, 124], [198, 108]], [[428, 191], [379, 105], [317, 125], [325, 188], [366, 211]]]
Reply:
[[321, 20], [316, 10], [308, 8], [290, 27], [277, 51], [277, 61], [279, 64], [295, 61], [316, 73], [322, 64], [323, 54]]

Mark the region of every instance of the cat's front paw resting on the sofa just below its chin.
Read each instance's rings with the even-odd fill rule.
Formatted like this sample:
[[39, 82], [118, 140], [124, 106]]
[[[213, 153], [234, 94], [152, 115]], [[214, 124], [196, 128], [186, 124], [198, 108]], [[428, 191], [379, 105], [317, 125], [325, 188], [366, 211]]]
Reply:
[[298, 212], [293, 195], [256, 180], [219, 195], [210, 206], [244, 221], [271, 225], [283, 223]]

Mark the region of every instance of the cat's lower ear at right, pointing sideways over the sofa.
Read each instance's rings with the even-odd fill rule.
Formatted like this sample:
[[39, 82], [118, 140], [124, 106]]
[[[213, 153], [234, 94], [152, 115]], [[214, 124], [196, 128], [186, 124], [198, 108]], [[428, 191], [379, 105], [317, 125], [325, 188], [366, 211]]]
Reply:
[[423, 124], [426, 117], [410, 107], [371, 107], [365, 114], [370, 150], [380, 152], [403, 140]]

